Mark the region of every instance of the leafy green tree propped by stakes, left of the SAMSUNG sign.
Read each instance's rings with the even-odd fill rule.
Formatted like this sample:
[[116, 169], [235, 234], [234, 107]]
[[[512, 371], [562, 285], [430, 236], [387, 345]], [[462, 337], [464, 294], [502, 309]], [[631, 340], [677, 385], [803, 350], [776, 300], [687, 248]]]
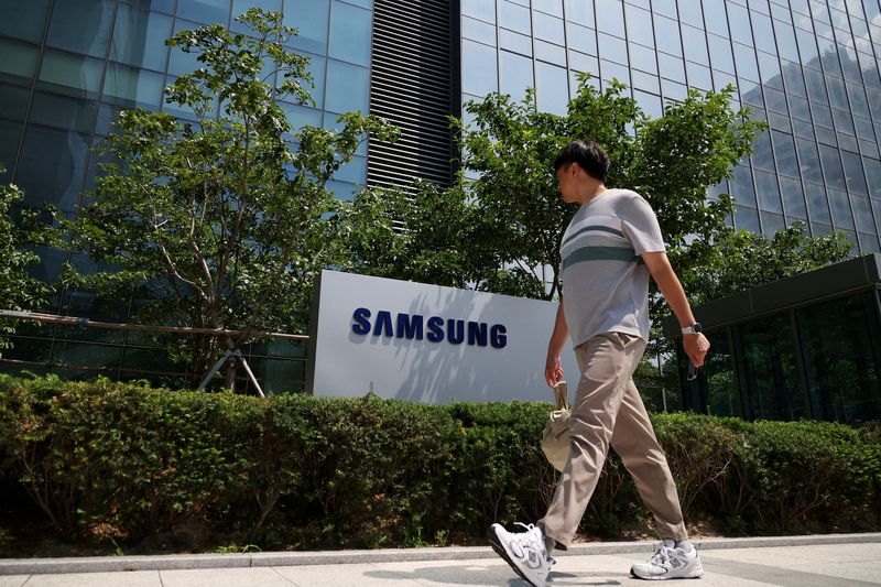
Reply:
[[[366, 137], [396, 132], [355, 112], [338, 130], [294, 133], [280, 100], [312, 104], [308, 58], [285, 48], [296, 31], [260, 9], [237, 21], [249, 34], [213, 24], [167, 41], [198, 54], [202, 67], [165, 89], [195, 122], [122, 112], [105, 145], [112, 163], [68, 224], [76, 246], [117, 267], [80, 275], [84, 287], [149, 301], [138, 306], [145, 323], [244, 331], [195, 345], [166, 339], [194, 381], [253, 331], [303, 327], [314, 278], [341, 259], [341, 204], [326, 183]], [[228, 387], [233, 376], [231, 361]]]

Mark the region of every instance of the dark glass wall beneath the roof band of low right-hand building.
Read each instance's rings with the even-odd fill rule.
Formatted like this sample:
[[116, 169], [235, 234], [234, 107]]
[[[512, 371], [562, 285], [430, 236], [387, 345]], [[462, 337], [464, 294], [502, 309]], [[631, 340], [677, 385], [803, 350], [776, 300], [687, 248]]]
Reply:
[[881, 418], [878, 304], [873, 290], [710, 330], [713, 352], [694, 381], [679, 349], [684, 407], [748, 420]]

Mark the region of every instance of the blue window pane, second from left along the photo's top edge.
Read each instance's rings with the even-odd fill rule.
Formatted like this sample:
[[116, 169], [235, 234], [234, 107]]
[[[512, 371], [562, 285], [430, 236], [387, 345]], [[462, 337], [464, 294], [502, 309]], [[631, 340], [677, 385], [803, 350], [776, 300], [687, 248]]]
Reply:
[[76, 53], [104, 57], [110, 40], [116, 2], [65, 0], [55, 2], [46, 44]]

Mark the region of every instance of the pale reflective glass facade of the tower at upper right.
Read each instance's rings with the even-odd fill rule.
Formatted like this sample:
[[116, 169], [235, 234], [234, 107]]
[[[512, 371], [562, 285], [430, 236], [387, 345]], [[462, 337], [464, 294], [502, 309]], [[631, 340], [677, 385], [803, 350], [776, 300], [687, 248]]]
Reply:
[[578, 72], [617, 78], [649, 116], [689, 88], [737, 87], [770, 129], [733, 178], [733, 226], [794, 220], [879, 251], [878, 0], [463, 0], [463, 100], [489, 91], [565, 113]]

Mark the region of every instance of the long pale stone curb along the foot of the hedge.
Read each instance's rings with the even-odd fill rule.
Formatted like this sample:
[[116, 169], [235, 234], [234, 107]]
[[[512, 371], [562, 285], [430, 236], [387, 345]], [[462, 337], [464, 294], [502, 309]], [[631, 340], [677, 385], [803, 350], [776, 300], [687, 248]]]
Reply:
[[[818, 544], [867, 544], [881, 542], [881, 533], [818, 534], [747, 539], [705, 539], [692, 542], [701, 551], [812, 546]], [[574, 544], [555, 556], [591, 554], [652, 553], [656, 542], [600, 542]], [[89, 556], [76, 558], [0, 559], [2, 575], [46, 575], [69, 573], [113, 573], [126, 570], [184, 570], [301, 565], [342, 565], [370, 563], [412, 563], [422, 561], [464, 561], [498, 556], [489, 546], [437, 548], [382, 548], [374, 551], [323, 551], [249, 554], [174, 554], [157, 556]]]

